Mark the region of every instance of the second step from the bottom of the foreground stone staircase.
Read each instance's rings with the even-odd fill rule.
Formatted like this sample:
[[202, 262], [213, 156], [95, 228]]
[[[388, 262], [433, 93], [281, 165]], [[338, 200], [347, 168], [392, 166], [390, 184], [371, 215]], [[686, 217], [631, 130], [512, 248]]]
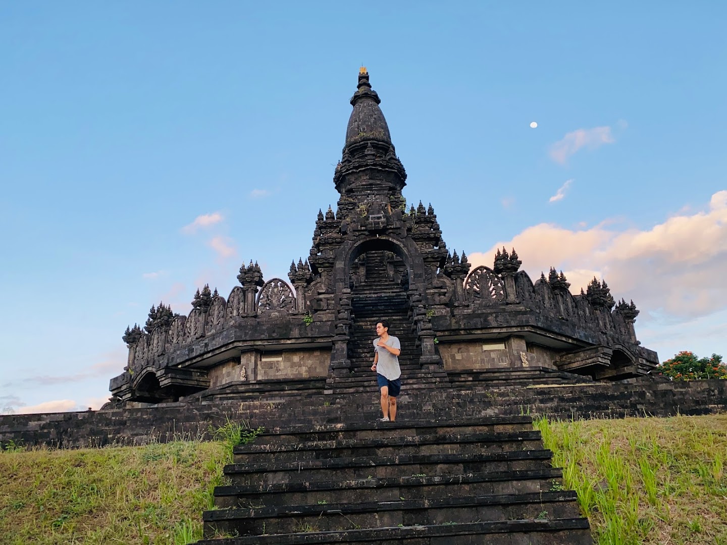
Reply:
[[[462, 524], [474, 520], [557, 520], [579, 516], [571, 491], [494, 494], [454, 498], [417, 498], [340, 504], [265, 506], [204, 512], [207, 535], [240, 536], [377, 528]], [[304, 530], [305, 529], [305, 530]]]

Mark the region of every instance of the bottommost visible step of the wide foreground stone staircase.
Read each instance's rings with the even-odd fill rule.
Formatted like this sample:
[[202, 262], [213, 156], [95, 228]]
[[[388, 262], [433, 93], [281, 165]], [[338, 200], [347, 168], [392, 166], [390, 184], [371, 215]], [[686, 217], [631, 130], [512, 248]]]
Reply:
[[198, 541], [200, 545], [592, 545], [588, 521], [507, 520], [440, 525], [366, 528], [340, 532], [306, 532]]

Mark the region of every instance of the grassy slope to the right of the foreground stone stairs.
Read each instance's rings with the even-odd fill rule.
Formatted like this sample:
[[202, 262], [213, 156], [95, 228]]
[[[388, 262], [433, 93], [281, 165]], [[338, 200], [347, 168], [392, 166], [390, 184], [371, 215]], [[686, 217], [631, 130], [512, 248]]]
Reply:
[[727, 545], [727, 415], [535, 427], [597, 544]]

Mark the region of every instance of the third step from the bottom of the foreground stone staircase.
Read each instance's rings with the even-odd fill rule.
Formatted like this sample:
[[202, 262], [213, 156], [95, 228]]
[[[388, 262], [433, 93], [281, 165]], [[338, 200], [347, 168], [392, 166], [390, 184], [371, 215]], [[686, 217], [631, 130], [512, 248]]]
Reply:
[[347, 501], [396, 501], [401, 498], [448, 498], [486, 494], [540, 493], [561, 490], [561, 469], [390, 477], [345, 481], [301, 481], [265, 486], [218, 486], [214, 489], [217, 508], [260, 505], [334, 504]]

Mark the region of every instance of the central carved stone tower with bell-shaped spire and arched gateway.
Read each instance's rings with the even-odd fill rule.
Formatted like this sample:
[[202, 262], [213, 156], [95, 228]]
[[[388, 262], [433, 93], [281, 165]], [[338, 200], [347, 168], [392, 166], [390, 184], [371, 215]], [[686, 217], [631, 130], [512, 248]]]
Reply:
[[338, 309], [330, 382], [371, 365], [366, 343], [374, 334], [372, 320], [379, 318], [393, 320], [391, 333], [409, 343], [403, 351], [411, 357], [409, 371], [443, 371], [434, 333], [423, 319], [427, 280], [447, 257], [434, 210], [422, 203], [406, 210], [401, 195], [406, 171], [366, 68], [350, 102], [353, 111], [334, 173], [337, 211], [319, 212], [308, 258], [313, 275], [324, 279], [314, 307]]

